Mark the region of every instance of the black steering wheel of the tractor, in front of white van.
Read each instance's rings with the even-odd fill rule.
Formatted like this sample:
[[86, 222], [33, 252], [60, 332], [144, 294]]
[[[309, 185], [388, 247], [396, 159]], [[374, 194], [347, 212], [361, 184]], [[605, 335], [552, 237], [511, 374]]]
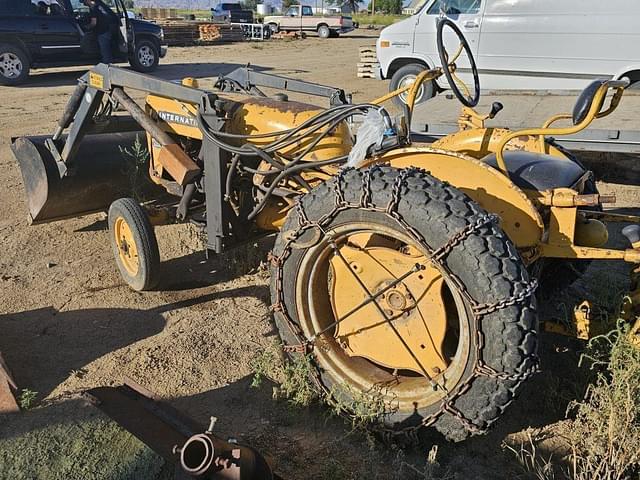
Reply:
[[[458, 40], [460, 41], [458, 50], [451, 59], [449, 59], [449, 53], [444, 48], [444, 41], [442, 38], [442, 33], [445, 26], [453, 30], [453, 32], [458, 37]], [[447, 77], [447, 82], [449, 82], [451, 90], [453, 90], [454, 95], [458, 98], [458, 100], [460, 100], [463, 105], [467, 107], [475, 107], [480, 100], [480, 80], [478, 78], [478, 68], [476, 67], [476, 62], [473, 59], [473, 55], [471, 54], [471, 48], [469, 47], [467, 39], [464, 38], [464, 35], [455, 23], [453, 23], [448, 18], [441, 18], [438, 20], [437, 42], [438, 55], [440, 56], [442, 71], [444, 73], [444, 76]], [[473, 97], [469, 93], [469, 88], [467, 88], [467, 85], [456, 75], [455, 62], [456, 60], [458, 60], [463, 50], [467, 54], [467, 57], [469, 57], [469, 63], [471, 64], [471, 73], [473, 74], [474, 87]]]

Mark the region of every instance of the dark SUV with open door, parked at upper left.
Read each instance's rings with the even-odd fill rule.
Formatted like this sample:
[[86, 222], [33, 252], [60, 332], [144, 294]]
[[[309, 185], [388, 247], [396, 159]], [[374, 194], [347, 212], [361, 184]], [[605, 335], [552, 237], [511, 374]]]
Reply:
[[[114, 62], [155, 70], [167, 53], [162, 28], [130, 18], [123, 0], [103, 1], [120, 18]], [[0, 0], [0, 84], [24, 82], [31, 68], [98, 63], [96, 35], [84, 27], [87, 14], [81, 0]]]

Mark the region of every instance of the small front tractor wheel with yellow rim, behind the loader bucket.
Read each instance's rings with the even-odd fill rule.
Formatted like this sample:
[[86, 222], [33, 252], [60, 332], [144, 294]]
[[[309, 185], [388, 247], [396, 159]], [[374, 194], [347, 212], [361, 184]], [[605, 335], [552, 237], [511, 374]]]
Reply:
[[153, 226], [144, 209], [132, 198], [120, 198], [109, 208], [109, 236], [118, 270], [137, 291], [159, 283], [160, 252]]

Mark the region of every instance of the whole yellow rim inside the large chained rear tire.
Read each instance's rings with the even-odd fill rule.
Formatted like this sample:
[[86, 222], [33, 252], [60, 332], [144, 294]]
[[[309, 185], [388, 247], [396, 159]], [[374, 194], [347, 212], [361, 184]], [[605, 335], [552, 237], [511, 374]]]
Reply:
[[[396, 250], [396, 241], [406, 248]], [[390, 321], [373, 302], [350, 314], [363, 304], [365, 287], [380, 291], [415, 264], [425, 268], [376, 298]], [[356, 392], [383, 387], [385, 402], [401, 415], [437, 404], [459, 384], [471, 355], [469, 311], [408, 235], [373, 223], [336, 226], [308, 250], [297, 278], [300, 327], [306, 338], [325, 332], [314, 354], [331, 384]]]

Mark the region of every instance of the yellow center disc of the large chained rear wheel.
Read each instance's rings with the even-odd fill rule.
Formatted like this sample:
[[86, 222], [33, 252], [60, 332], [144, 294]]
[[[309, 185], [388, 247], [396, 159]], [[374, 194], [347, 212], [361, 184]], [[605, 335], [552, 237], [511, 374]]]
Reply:
[[[417, 264], [423, 268], [401, 279]], [[426, 257], [345, 244], [331, 259], [331, 273], [334, 335], [347, 355], [421, 375], [447, 368], [444, 281]]]

